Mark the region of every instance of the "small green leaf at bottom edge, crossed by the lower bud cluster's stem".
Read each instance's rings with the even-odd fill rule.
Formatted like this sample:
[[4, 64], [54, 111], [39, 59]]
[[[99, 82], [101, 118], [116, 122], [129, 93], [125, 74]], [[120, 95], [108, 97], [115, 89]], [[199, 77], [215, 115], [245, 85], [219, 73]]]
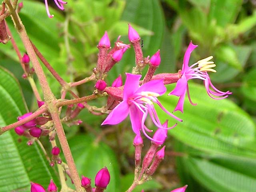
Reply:
[[[132, 184], [134, 180], [134, 174], [127, 174], [121, 178], [121, 191], [126, 191]], [[162, 185], [157, 182], [156, 180], [152, 179], [148, 182], [145, 182], [142, 185], [136, 186], [133, 192], [141, 192], [142, 190], [156, 190], [156, 189], [161, 189]]]

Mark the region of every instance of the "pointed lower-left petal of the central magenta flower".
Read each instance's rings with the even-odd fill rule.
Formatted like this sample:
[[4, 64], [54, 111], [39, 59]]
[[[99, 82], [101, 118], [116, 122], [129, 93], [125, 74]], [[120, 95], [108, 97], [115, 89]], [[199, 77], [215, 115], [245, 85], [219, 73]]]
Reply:
[[101, 125], [116, 125], [122, 122], [129, 114], [129, 107], [126, 101], [122, 101], [112, 110]]

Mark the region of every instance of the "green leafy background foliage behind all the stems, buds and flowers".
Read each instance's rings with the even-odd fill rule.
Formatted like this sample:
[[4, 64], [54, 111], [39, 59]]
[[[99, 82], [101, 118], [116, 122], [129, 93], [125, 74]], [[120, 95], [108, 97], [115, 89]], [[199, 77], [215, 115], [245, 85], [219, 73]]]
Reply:
[[[160, 48], [162, 62], [158, 73], [177, 72], [182, 67], [190, 40], [198, 45], [190, 64], [213, 55], [217, 73], [210, 74], [212, 82], [220, 90], [231, 90], [233, 94], [225, 100], [212, 100], [202, 82], [196, 82], [201, 85], [190, 82], [192, 100], [198, 105], [191, 106], [186, 100], [184, 114], [175, 113], [183, 122], [169, 131], [164, 161], [153, 180], [134, 191], [168, 192], [184, 184], [188, 184], [188, 192], [256, 190], [255, 0], [70, 0], [65, 12], [58, 12], [52, 1], [52, 19], [47, 17], [42, 2], [24, 0], [23, 4], [20, 17], [28, 36], [67, 82], [92, 74], [97, 62], [96, 46], [105, 30], [112, 43], [121, 35], [121, 40], [128, 44], [128, 22], [144, 40], [144, 56], [151, 56]], [[10, 18], [7, 23], [21, 52], [25, 52]], [[22, 68], [10, 42], [0, 45], [0, 65], [0, 114], [1, 126], [4, 126], [15, 122], [16, 116], [26, 111], [26, 106], [30, 111], [36, 110], [36, 99], [28, 82], [21, 78]], [[131, 48], [108, 74], [108, 85], [119, 74], [124, 78], [124, 72], [131, 72], [133, 66]], [[45, 72], [54, 94], [60, 98], [61, 87], [47, 70]], [[8, 82], [12, 84], [6, 86]], [[94, 83], [78, 86], [74, 92], [80, 96], [91, 94]], [[169, 91], [172, 88], [174, 85], [168, 86]], [[161, 102], [172, 111], [177, 98], [163, 96]], [[105, 103], [106, 99], [99, 99], [89, 104], [100, 107]], [[158, 112], [163, 121], [168, 118]], [[129, 121], [100, 127], [104, 117], [83, 110], [78, 116], [83, 124], [65, 126], [66, 135], [80, 174], [94, 178], [100, 168], [107, 166], [111, 182], [106, 191], [124, 191], [133, 180], [134, 134]], [[150, 122], [148, 125], [150, 127]], [[17, 142], [14, 132], [0, 137], [0, 164], [10, 167], [7, 170], [0, 166], [0, 177], [6, 180], [1, 182], [0, 191], [27, 191], [30, 180], [46, 186], [50, 178], [55, 178], [58, 184], [55, 172], [47, 166], [38, 146], [28, 147], [26, 139], [20, 140], [21, 143]], [[47, 148], [48, 138], [41, 141]], [[149, 145], [145, 139], [144, 153]], [[23, 168], [16, 170], [13, 162]], [[32, 174], [38, 169], [36, 176]], [[19, 173], [22, 179], [11, 172]]]

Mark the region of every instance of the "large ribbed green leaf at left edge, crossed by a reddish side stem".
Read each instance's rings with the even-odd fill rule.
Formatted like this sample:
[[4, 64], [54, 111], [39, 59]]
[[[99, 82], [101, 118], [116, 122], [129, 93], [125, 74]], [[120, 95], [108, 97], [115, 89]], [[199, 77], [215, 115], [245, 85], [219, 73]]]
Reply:
[[[16, 79], [3, 68], [0, 76], [0, 126], [6, 126], [26, 113], [26, 108]], [[47, 187], [50, 179], [54, 179], [58, 184], [38, 145], [28, 146], [26, 142], [14, 130], [0, 136], [0, 191], [29, 191], [30, 181]]]

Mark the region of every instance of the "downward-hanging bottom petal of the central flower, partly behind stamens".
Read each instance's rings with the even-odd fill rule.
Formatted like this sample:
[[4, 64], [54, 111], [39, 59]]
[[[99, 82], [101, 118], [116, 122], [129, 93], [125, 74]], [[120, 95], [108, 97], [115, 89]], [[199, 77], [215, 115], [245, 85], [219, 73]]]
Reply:
[[140, 134], [142, 128], [143, 112], [139, 110], [136, 105], [130, 106], [130, 119], [132, 123], [132, 130], [136, 134]]

